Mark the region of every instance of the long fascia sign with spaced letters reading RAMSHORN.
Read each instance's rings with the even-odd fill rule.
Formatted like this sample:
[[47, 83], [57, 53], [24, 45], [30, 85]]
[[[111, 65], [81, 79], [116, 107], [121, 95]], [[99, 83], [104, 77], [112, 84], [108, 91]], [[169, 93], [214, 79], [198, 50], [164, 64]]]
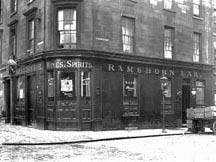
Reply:
[[201, 78], [202, 75], [198, 71], [190, 70], [175, 70], [175, 69], [163, 69], [158, 67], [138, 67], [127, 65], [108, 64], [106, 69], [109, 72], [126, 72], [133, 74], [147, 74], [147, 75], [162, 75], [162, 76], [181, 76], [181, 77], [195, 77]]

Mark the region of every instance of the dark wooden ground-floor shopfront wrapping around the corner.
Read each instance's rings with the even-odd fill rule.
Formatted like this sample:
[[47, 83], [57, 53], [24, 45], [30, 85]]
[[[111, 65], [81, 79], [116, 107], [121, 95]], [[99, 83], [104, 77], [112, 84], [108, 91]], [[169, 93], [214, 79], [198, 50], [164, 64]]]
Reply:
[[212, 104], [208, 67], [54, 57], [20, 64], [13, 83], [5, 82], [16, 92], [8, 97], [9, 114], [16, 124], [50, 130], [162, 128], [162, 76], [169, 79], [167, 127], [186, 122], [192, 88], [199, 106]]

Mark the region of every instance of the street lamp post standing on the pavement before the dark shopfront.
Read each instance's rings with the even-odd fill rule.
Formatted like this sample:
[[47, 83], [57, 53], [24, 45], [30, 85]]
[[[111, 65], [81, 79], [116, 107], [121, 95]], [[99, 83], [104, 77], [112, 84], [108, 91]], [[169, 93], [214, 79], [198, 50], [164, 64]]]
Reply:
[[168, 78], [163, 76], [160, 78], [160, 82], [161, 82], [161, 93], [162, 93], [162, 97], [163, 97], [163, 101], [162, 101], [162, 104], [163, 104], [163, 110], [162, 110], [162, 116], [163, 116], [163, 122], [162, 122], [162, 133], [166, 133], [166, 130], [165, 130], [165, 97], [167, 96], [168, 94]]

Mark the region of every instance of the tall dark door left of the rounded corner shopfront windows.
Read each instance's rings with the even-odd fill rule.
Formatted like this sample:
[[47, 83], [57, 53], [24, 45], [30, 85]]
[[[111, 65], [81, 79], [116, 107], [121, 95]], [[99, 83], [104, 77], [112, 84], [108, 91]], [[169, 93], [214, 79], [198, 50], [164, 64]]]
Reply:
[[34, 125], [36, 123], [36, 77], [27, 77], [27, 117], [28, 125]]

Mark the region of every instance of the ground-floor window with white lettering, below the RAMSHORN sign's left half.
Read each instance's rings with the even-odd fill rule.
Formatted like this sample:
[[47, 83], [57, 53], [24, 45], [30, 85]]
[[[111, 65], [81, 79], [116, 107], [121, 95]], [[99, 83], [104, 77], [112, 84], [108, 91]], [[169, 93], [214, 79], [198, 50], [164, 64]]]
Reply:
[[124, 76], [124, 96], [137, 97], [137, 78], [133, 75]]

